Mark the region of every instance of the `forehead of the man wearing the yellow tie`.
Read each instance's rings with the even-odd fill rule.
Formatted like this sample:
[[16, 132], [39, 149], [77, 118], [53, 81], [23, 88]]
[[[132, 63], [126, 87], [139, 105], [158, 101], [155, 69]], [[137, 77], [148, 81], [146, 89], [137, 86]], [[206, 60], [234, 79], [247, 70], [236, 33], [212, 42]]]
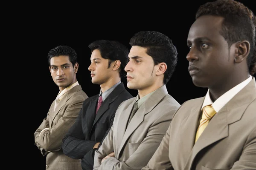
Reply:
[[218, 40], [221, 31], [223, 17], [204, 15], [199, 17], [189, 29], [188, 41], [204, 37], [209, 40]]

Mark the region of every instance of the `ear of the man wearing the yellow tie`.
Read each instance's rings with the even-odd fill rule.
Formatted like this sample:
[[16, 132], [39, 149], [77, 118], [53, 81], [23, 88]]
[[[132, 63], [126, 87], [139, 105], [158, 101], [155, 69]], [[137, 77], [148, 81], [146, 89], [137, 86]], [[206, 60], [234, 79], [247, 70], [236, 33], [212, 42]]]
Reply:
[[250, 52], [250, 43], [249, 41], [241, 41], [236, 44], [236, 55], [234, 58], [235, 63], [241, 63], [244, 59], [247, 58]]

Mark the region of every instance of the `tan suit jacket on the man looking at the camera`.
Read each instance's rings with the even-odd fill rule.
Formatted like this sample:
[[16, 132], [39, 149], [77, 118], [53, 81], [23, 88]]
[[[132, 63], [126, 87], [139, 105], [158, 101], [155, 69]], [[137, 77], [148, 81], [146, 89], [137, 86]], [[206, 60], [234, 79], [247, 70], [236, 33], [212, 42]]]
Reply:
[[[55, 101], [48, 111], [47, 117], [35, 131], [35, 145], [46, 156], [47, 170], [81, 170], [80, 159], [75, 160], [65, 156], [62, 149], [62, 138], [74, 124], [82, 107], [83, 101], [88, 98], [81, 85], [70, 89], [58, 103], [55, 111]], [[50, 128], [40, 132], [44, 128]]]

